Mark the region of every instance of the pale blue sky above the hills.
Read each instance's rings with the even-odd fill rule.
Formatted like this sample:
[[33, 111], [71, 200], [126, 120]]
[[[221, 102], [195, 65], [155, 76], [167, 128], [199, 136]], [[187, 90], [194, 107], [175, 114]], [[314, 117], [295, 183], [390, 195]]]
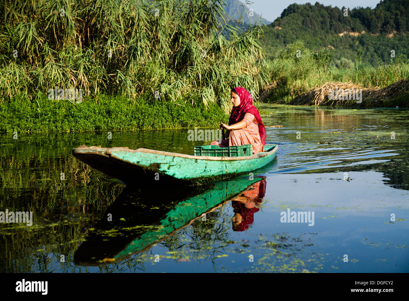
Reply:
[[[245, 3], [246, 0], [240, 0]], [[257, 14], [269, 21], [274, 21], [277, 17], [281, 15], [281, 12], [292, 3], [305, 4], [310, 2], [312, 5], [315, 2], [319, 2], [325, 6], [331, 5], [332, 7], [339, 7], [341, 9], [343, 6], [353, 9], [354, 7], [371, 7], [375, 8], [380, 0], [247, 0], [247, 2], [252, 2], [254, 4], [247, 4], [247, 7], [254, 9]]]

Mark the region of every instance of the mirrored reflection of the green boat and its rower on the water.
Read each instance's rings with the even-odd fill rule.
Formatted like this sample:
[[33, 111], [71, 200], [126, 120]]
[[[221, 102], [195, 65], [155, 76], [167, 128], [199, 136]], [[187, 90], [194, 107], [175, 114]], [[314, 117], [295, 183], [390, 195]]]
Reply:
[[89, 229], [74, 254], [77, 265], [106, 265], [146, 251], [204, 214], [233, 201], [233, 228], [253, 222], [265, 192], [265, 178], [218, 181], [206, 186], [151, 191], [126, 188]]

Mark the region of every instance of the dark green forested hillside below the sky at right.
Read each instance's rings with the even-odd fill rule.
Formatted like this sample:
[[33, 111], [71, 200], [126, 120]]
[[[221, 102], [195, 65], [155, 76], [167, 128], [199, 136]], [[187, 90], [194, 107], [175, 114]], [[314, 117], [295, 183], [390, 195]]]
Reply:
[[372, 66], [409, 52], [409, 0], [385, 0], [374, 8], [292, 4], [270, 25], [263, 26], [267, 57], [302, 40], [308, 49], [331, 48], [333, 63], [351, 66], [360, 60]]

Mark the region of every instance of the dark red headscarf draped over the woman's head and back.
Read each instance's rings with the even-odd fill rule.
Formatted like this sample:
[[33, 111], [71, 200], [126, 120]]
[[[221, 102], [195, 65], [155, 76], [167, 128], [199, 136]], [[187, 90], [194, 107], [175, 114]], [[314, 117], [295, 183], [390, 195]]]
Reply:
[[234, 88], [236, 90], [238, 96], [240, 97], [240, 104], [238, 106], [234, 106], [231, 110], [230, 118], [229, 118], [229, 125], [235, 124], [240, 120], [243, 120], [244, 115], [246, 113], [250, 113], [254, 115], [258, 122], [258, 133], [260, 134], [261, 143], [265, 145], [265, 127], [263, 121], [261, 121], [260, 113], [258, 112], [257, 108], [253, 105], [253, 97], [252, 95], [242, 87]]

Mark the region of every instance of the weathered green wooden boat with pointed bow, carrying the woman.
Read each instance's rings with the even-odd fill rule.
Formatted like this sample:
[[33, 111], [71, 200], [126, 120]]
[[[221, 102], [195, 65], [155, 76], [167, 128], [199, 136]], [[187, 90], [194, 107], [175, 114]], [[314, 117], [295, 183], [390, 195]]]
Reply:
[[[264, 152], [253, 156], [194, 156], [153, 149], [127, 147], [87, 147], [72, 154], [84, 163], [125, 183], [200, 183], [245, 174], [270, 163], [277, 145], [266, 144]], [[159, 180], [159, 181], [157, 181]]]

